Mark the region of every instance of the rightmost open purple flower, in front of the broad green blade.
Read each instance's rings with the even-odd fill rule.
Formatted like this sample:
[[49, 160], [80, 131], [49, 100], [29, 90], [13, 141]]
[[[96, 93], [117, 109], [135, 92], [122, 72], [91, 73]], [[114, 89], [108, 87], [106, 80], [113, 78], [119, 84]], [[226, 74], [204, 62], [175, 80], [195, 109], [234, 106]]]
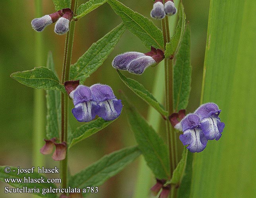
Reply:
[[194, 112], [199, 116], [202, 131], [209, 140], [221, 138], [225, 124], [219, 118], [220, 112], [221, 110], [214, 103], [203, 104]]

